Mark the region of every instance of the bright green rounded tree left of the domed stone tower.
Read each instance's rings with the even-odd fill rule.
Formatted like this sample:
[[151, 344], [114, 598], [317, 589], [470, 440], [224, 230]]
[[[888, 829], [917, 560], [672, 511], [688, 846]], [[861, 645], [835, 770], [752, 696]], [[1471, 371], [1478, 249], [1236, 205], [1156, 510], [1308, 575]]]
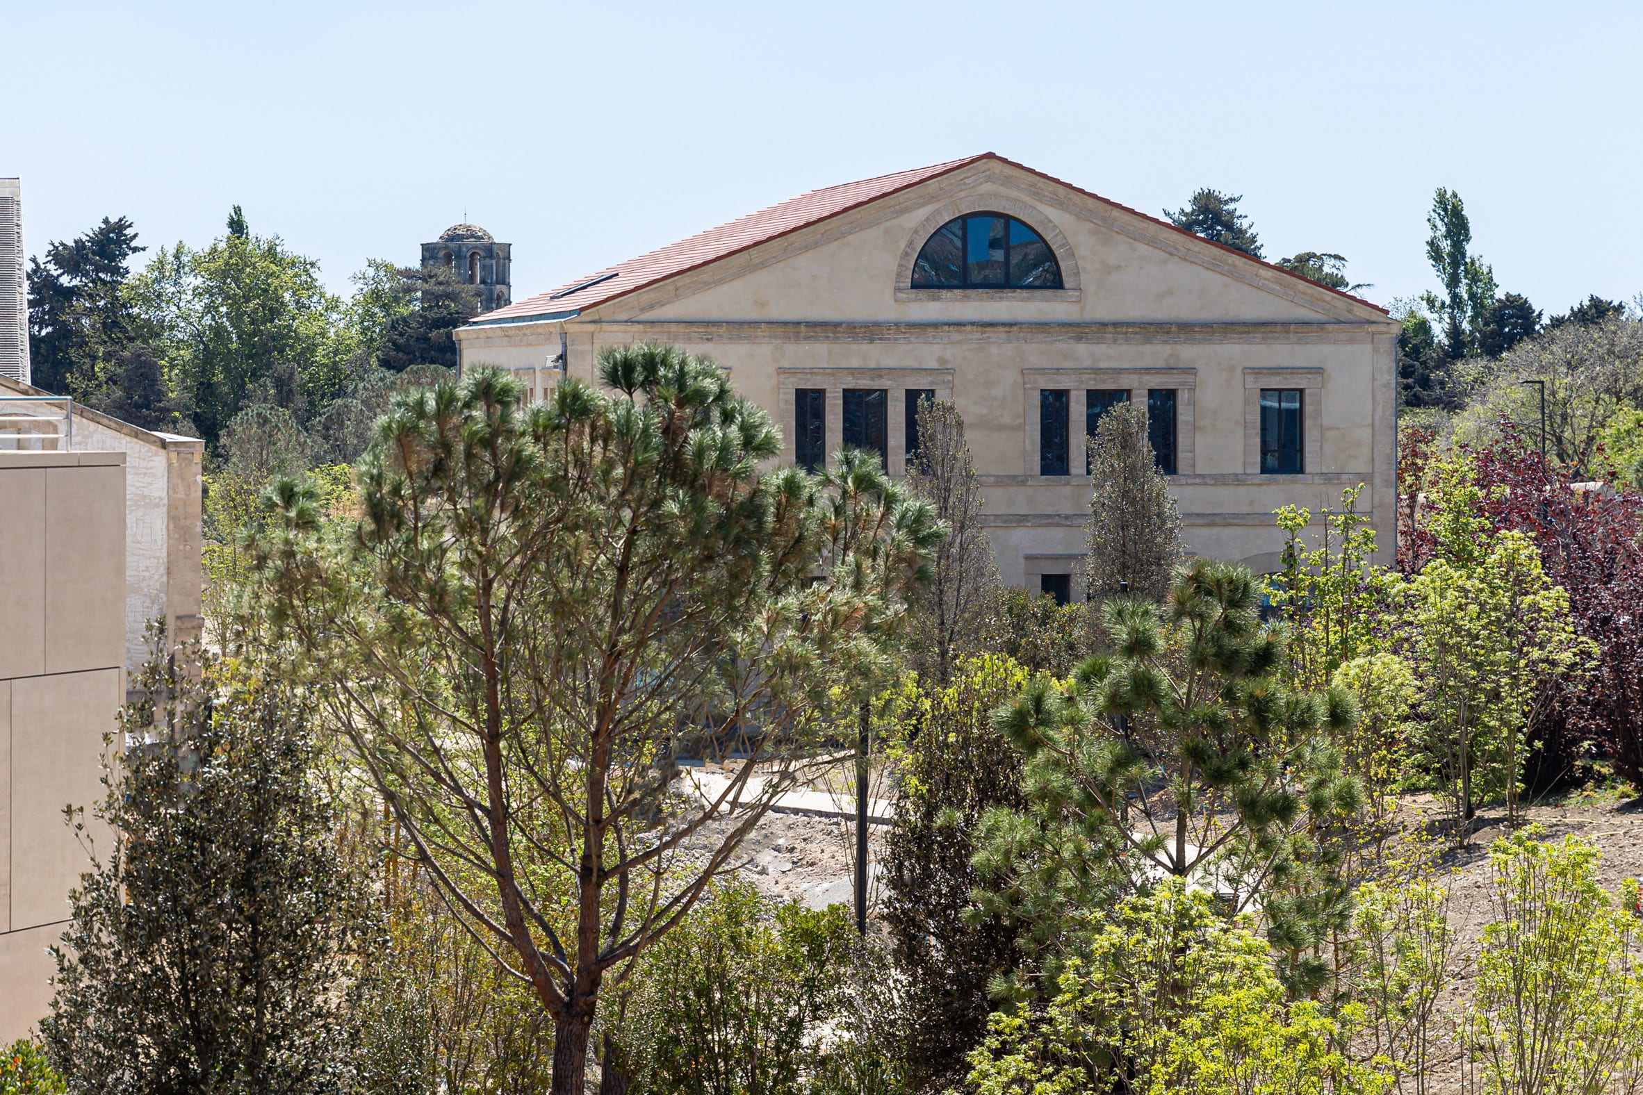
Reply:
[[173, 391], [212, 447], [278, 368], [315, 405], [348, 373], [352, 346], [337, 338], [343, 305], [325, 292], [319, 264], [279, 236], [253, 235], [238, 205], [225, 236], [202, 251], [161, 248], [131, 292]]

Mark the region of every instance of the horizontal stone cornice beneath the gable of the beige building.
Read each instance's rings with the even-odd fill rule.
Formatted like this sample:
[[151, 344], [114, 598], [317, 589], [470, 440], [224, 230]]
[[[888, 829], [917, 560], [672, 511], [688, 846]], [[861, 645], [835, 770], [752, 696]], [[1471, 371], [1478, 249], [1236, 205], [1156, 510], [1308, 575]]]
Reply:
[[[583, 327], [570, 320], [572, 327]], [[729, 343], [1362, 345], [1385, 323], [591, 320], [595, 337]]]

